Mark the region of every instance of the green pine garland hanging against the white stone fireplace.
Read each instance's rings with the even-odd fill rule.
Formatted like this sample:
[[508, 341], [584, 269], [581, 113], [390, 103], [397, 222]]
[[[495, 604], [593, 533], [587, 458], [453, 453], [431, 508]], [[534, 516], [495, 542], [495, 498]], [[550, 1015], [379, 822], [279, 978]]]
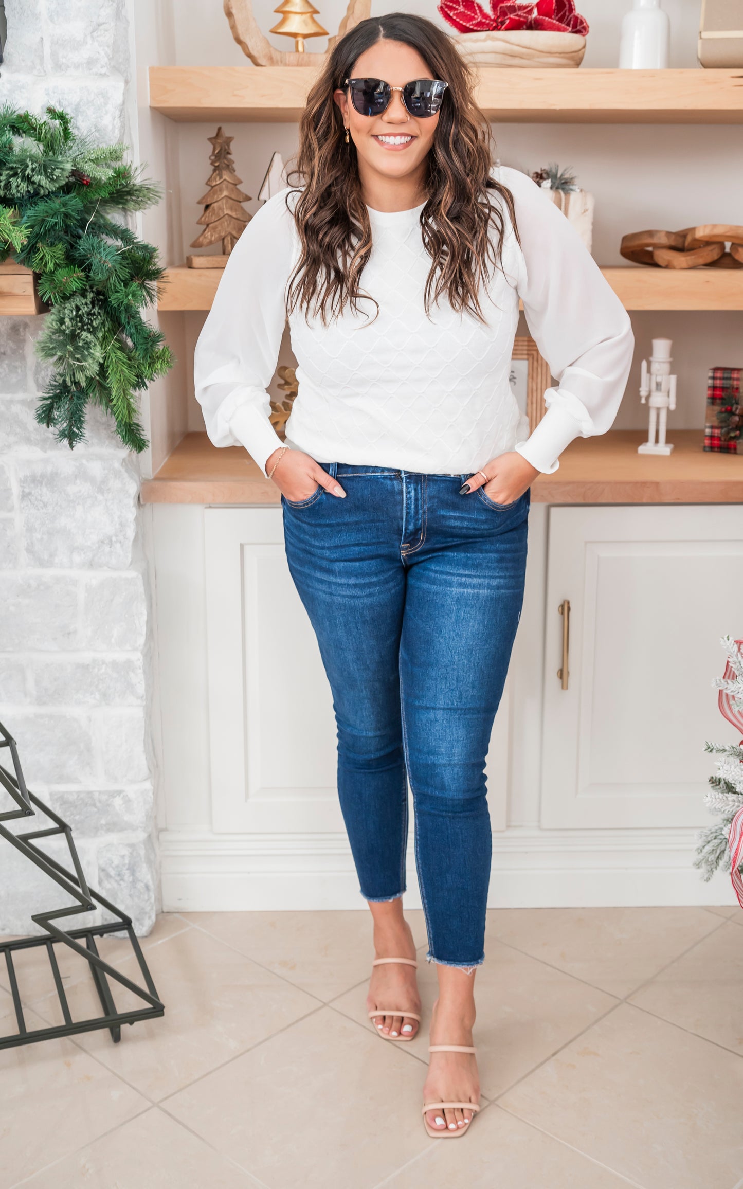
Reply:
[[143, 317], [163, 275], [157, 249], [114, 216], [152, 206], [159, 190], [124, 161], [125, 145], [93, 145], [58, 108], [46, 117], [0, 109], [0, 260], [12, 253], [33, 269], [51, 306], [36, 350], [53, 373], [36, 417], [71, 449], [93, 402], [140, 452], [136, 394], [174, 360]]

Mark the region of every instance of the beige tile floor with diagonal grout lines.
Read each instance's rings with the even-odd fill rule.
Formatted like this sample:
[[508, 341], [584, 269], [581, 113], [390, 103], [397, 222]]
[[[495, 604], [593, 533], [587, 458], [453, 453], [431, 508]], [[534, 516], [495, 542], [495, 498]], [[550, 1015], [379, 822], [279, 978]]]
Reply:
[[[366, 913], [168, 914], [144, 946], [163, 1019], [0, 1051], [0, 1189], [743, 1189], [738, 910], [490, 912], [458, 1144], [421, 1124], [424, 1033], [367, 1024]], [[59, 964], [83, 1018], [89, 976]], [[18, 965], [32, 1026], [57, 1020], [38, 955]]]

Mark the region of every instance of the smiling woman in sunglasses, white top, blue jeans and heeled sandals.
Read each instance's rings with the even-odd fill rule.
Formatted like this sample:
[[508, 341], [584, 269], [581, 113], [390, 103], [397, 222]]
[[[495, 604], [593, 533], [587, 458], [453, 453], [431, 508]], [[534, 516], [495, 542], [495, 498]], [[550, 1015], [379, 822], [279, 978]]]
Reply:
[[[338, 721], [338, 787], [373, 917], [369, 1012], [420, 1026], [402, 912], [408, 784], [439, 1000], [429, 1134], [464, 1134], [491, 831], [484, 765], [521, 614], [529, 485], [611, 426], [632, 334], [565, 216], [493, 169], [453, 43], [420, 17], [361, 21], [300, 125], [297, 185], [238, 241], [199, 340], [214, 445], [243, 443], [282, 492], [289, 567]], [[559, 377], [529, 435], [509, 373], [518, 300]], [[298, 395], [269, 422], [287, 315]], [[445, 1106], [445, 1103], [447, 1103]]]

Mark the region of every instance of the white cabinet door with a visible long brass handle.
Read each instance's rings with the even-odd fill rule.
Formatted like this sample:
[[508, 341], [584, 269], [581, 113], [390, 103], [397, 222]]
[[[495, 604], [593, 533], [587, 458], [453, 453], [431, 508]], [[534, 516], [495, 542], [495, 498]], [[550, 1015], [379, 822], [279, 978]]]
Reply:
[[726, 735], [710, 682], [741, 590], [737, 507], [552, 509], [542, 825], [706, 824], [704, 742]]

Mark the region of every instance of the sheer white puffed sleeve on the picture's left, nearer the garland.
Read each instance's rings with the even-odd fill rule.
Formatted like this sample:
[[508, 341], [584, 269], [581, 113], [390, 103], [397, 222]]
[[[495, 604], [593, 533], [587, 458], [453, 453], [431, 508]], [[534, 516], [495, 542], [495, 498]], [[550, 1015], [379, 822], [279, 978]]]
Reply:
[[283, 442], [269, 421], [271, 383], [295, 263], [294, 218], [282, 190], [235, 244], [194, 357], [196, 400], [215, 446], [244, 446], [265, 474]]

